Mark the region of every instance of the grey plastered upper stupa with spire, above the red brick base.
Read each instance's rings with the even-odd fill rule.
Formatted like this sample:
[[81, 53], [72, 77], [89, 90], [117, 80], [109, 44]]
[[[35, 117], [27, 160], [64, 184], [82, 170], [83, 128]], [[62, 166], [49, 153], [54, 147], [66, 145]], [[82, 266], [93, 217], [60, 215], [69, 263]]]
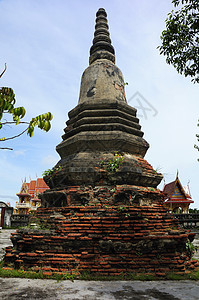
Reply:
[[[126, 184], [155, 188], [162, 179], [143, 159], [149, 144], [143, 139], [136, 109], [126, 101], [107, 14], [101, 8], [96, 16], [90, 65], [82, 75], [79, 103], [69, 112], [63, 141], [57, 146], [61, 160], [55, 168], [59, 172], [46, 178], [53, 192], [42, 195], [45, 206], [63, 206], [65, 190], [55, 203], [55, 195], [62, 194], [63, 187]], [[116, 172], [107, 172], [115, 161]]]

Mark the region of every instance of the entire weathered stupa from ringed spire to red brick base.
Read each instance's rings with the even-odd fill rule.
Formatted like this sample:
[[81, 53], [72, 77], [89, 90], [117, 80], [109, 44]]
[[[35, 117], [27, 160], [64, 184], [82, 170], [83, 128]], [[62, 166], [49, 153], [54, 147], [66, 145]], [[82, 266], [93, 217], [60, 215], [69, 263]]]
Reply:
[[43, 229], [13, 234], [5, 264], [47, 274], [159, 276], [197, 266], [186, 246], [193, 234], [163, 206], [162, 175], [144, 159], [149, 144], [124, 86], [100, 8], [79, 103], [57, 146], [61, 159], [44, 178], [50, 189], [36, 212]]

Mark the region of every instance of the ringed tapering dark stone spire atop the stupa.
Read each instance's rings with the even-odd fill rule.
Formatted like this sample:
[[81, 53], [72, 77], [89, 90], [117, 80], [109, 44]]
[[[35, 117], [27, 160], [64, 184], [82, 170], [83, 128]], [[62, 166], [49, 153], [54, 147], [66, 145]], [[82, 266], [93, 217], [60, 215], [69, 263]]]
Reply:
[[104, 8], [100, 8], [96, 13], [96, 25], [93, 45], [90, 48], [89, 64], [97, 59], [108, 59], [115, 63], [115, 50], [111, 45], [107, 21], [107, 13]]

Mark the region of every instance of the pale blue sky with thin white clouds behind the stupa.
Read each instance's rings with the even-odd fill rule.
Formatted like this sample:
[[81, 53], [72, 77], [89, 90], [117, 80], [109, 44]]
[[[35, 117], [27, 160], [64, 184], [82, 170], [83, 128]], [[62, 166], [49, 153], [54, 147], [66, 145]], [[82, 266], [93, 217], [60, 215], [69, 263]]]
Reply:
[[[15, 205], [22, 180], [40, 177], [59, 160], [55, 147], [68, 112], [78, 103], [100, 7], [107, 11], [116, 64], [128, 82], [128, 103], [147, 109], [138, 108], [150, 144], [146, 159], [166, 183], [175, 179], [178, 169], [182, 184], [190, 181], [193, 207], [199, 208], [199, 153], [193, 147], [198, 85], [167, 65], [157, 50], [164, 20], [173, 8], [168, 0], [0, 1], [0, 70], [5, 62], [8, 67], [1, 86], [14, 89], [17, 104], [27, 110], [26, 120], [48, 111], [54, 116], [50, 132], [36, 130], [31, 139], [24, 135], [7, 143], [13, 151], [1, 150], [0, 201]], [[10, 133], [7, 127], [0, 137]]]

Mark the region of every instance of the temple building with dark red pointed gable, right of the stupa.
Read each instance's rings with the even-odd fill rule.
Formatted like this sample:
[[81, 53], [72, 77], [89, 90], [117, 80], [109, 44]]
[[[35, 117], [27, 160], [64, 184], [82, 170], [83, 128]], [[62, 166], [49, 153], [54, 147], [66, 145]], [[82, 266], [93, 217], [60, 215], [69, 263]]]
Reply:
[[172, 213], [189, 213], [189, 205], [194, 203], [191, 198], [189, 186], [183, 187], [178, 174], [176, 179], [163, 188], [165, 194], [164, 206]]

